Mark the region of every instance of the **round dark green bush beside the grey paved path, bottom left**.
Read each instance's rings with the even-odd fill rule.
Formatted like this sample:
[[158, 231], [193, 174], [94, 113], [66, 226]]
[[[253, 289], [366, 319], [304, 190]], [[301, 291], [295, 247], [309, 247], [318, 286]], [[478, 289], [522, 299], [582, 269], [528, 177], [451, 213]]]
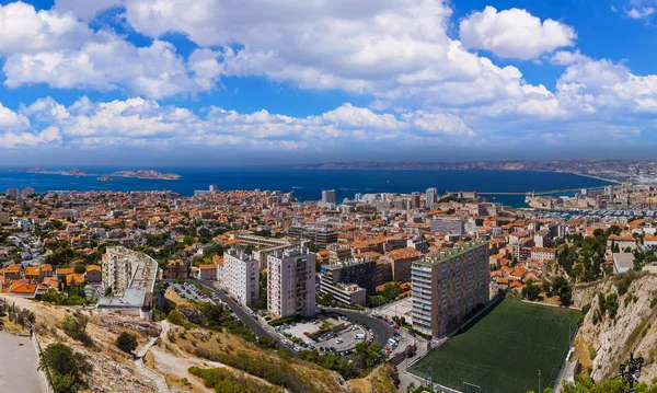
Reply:
[[82, 354], [61, 344], [50, 344], [41, 354], [39, 370], [50, 377], [55, 393], [73, 393], [88, 388], [82, 375], [92, 370], [92, 366]]

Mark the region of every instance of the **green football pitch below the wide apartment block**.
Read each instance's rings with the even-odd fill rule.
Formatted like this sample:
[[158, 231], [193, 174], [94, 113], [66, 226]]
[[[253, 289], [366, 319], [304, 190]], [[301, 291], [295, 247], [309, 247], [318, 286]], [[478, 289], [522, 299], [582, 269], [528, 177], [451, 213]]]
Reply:
[[410, 371], [446, 388], [526, 393], [554, 385], [579, 311], [504, 300]]

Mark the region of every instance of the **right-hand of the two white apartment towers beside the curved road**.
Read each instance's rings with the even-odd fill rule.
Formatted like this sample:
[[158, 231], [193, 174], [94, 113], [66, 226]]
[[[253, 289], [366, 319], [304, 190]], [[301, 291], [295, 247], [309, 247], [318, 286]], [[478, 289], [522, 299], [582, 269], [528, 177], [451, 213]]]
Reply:
[[267, 256], [267, 309], [274, 315], [315, 314], [315, 258], [306, 247]]

